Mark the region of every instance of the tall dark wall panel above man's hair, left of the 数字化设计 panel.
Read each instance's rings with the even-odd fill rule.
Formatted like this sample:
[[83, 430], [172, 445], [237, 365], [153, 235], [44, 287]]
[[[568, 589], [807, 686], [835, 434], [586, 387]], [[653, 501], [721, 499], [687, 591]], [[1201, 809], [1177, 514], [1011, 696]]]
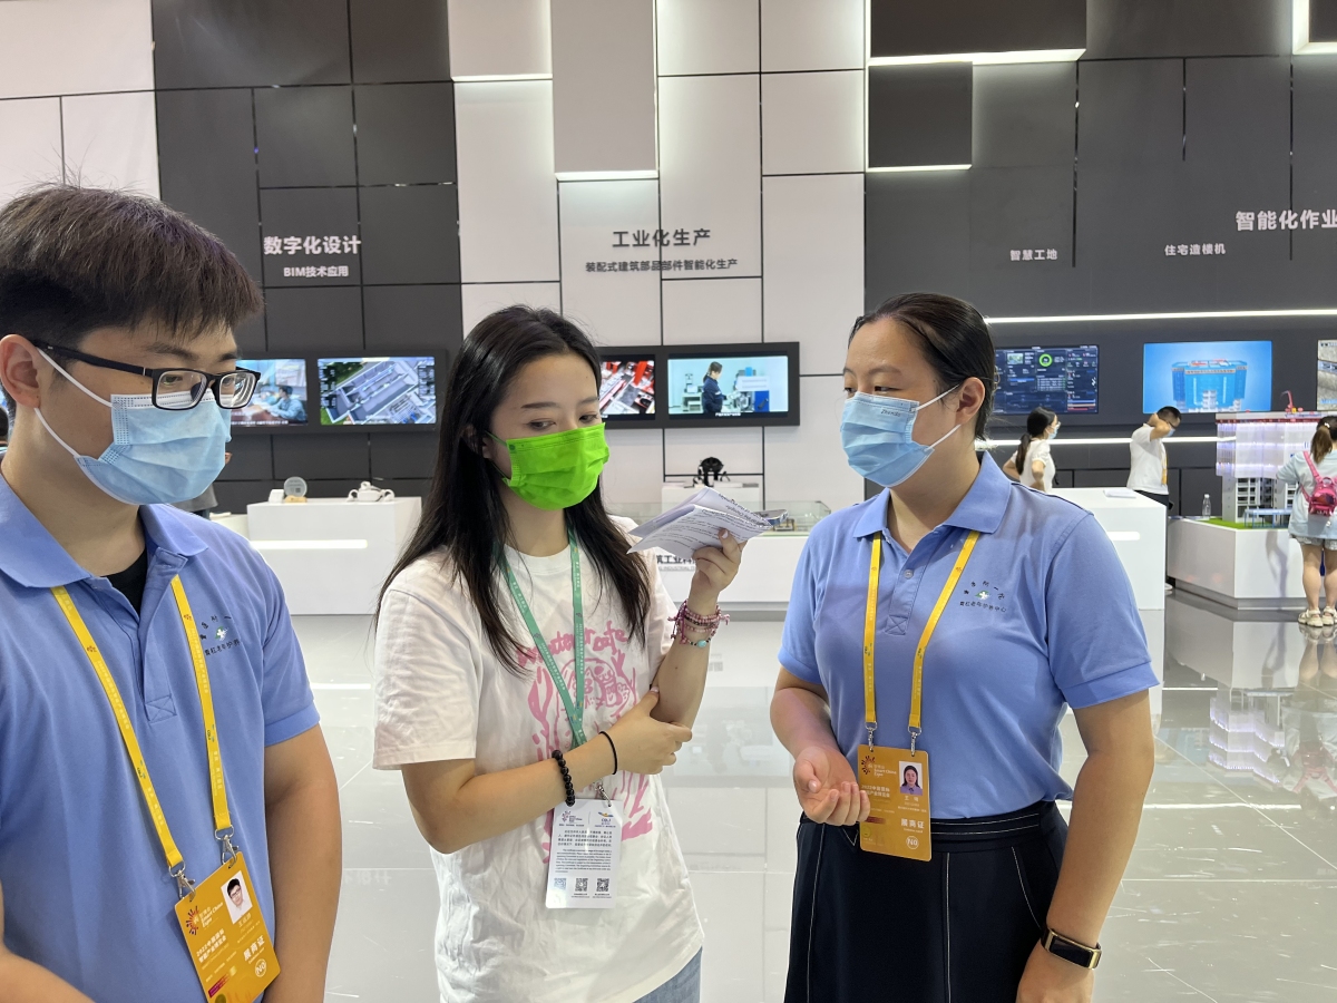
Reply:
[[255, 130], [250, 91], [158, 94], [163, 202], [217, 234], [261, 277]]

